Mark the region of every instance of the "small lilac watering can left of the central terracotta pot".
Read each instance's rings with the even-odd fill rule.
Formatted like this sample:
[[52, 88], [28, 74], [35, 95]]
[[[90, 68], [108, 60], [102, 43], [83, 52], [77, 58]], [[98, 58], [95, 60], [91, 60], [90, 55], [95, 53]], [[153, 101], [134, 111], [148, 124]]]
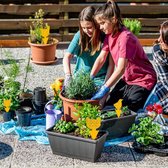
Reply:
[[62, 117], [62, 111], [55, 109], [56, 101], [51, 100], [49, 101], [44, 108], [46, 113], [46, 129], [55, 125], [57, 120], [60, 120]]

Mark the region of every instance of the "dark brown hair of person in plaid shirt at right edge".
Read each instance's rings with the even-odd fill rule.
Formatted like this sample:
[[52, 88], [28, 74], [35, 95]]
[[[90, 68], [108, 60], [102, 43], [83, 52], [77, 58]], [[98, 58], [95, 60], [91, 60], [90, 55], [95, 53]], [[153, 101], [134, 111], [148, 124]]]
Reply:
[[168, 20], [160, 25], [160, 36], [162, 41], [168, 45]]

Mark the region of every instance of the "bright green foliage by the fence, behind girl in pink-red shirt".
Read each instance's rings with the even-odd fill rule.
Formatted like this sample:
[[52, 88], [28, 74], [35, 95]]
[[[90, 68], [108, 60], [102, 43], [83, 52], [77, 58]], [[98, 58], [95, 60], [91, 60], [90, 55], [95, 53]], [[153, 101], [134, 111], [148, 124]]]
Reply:
[[131, 32], [133, 32], [136, 36], [139, 34], [141, 30], [141, 22], [137, 19], [124, 19], [124, 25], [127, 27]]

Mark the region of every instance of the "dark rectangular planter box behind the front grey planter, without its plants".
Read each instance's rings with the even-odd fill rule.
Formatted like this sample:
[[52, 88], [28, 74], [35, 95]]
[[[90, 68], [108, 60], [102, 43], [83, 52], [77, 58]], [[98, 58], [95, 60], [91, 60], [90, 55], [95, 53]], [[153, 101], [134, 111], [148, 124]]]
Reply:
[[126, 136], [129, 128], [135, 122], [136, 115], [135, 112], [131, 111], [128, 116], [102, 120], [100, 130], [108, 131], [107, 140]]

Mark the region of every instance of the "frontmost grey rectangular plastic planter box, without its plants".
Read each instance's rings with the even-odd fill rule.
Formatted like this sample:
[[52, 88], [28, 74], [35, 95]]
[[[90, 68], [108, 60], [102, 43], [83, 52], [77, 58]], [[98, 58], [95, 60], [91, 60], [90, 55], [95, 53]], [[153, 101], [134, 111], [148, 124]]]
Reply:
[[53, 154], [90, 162], [95, 162], [101, 156], [108, 134], [107, 132], [103, 132], [103, 135], [99, 139], [92, 140], [68, 134], [56, 133], [51, 130], [52, 128], [48, 129], [46, 132], [48, 134]]

